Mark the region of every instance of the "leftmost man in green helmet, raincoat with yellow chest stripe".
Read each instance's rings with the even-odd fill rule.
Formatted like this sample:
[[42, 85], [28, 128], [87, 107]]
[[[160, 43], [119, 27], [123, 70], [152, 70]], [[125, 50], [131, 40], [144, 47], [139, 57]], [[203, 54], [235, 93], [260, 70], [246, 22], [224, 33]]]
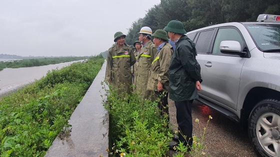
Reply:
[[132, 48], [125, 44], [122, 32], [114, 34], [114, 44], [108, 50], [105, 81], [112, 84], [113, 89], [121, 92], [131, 93], [132, 76], [130, 67], [136, 62]]

